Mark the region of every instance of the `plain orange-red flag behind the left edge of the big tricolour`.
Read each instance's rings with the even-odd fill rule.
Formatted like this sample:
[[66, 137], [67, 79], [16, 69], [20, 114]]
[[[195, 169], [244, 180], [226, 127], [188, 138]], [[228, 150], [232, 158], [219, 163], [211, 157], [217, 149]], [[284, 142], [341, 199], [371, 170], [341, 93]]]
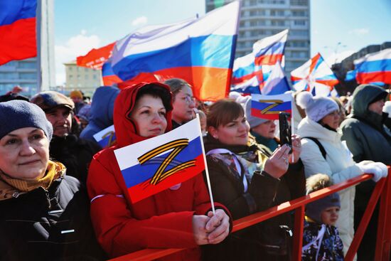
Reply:
[[109, 43], [101, 48], [92, 48], [86, 55], [77, 56], [77, 66], [87, 67], [95, 70], [102, 69], [103, 64], [112, 56], [112, 50], [115, 45]]

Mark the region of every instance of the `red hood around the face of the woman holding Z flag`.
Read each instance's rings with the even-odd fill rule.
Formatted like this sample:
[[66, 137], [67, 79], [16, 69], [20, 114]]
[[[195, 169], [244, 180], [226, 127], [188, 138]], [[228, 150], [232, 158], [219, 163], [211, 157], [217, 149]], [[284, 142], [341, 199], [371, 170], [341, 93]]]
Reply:
[[141, 137], [137, 134], [136, 122], [132, 121], [129, 117], [130, 112], [132, 112], [134, 105], [136, 104], [137, 93], [141, 88], [148, 87], [149, 85], [163, 87], [170, 94], [171, 108], [166, 108], [166, 132], [171, 131], [172, 93], [170, 87], [160, 82], [140, 82], [136, 85], [122, 89], [114, 102], [114, 129], [118, 148], [151, 138]]

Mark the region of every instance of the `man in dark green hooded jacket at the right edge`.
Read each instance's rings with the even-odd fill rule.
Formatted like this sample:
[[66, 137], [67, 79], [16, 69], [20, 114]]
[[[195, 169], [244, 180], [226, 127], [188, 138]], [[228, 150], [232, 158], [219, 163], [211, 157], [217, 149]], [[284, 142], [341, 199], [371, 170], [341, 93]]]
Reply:
[[[353, 92], [352, 112], [341, 124], [342, 139], [346, 141], [355, 162], [371, 160], [391, 165], [391, 136], [387, 134], [382, 112], [387, 92], [376, 85], [360, 85]], [[355, 229], [363, 217], [375, 181], [365, 181], [356, 186]], [[373, 260], [377, 232], [378, 211], [373, 213], [370, 224], [358, 249], [358, 260]]]

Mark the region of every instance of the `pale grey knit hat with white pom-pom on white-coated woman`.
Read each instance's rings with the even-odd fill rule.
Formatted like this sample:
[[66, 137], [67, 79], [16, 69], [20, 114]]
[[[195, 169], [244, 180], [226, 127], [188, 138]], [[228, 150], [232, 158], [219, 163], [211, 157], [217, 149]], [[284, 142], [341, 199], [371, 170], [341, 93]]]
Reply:
[[296, 103], [306, 111], [307, 117], [318, 122], [327, 114], [339, 110], [336, 101], [329, 97], [314, 97], [310, 92], [299, 92]]

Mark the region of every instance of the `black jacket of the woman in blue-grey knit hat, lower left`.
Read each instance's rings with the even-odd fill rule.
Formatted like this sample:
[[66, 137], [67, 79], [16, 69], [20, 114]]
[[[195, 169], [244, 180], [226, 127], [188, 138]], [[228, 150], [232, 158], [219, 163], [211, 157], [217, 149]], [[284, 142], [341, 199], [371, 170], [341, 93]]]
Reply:
[[0, 260], [103, 260], [85, 188], [72, 176], [0, 201]]

